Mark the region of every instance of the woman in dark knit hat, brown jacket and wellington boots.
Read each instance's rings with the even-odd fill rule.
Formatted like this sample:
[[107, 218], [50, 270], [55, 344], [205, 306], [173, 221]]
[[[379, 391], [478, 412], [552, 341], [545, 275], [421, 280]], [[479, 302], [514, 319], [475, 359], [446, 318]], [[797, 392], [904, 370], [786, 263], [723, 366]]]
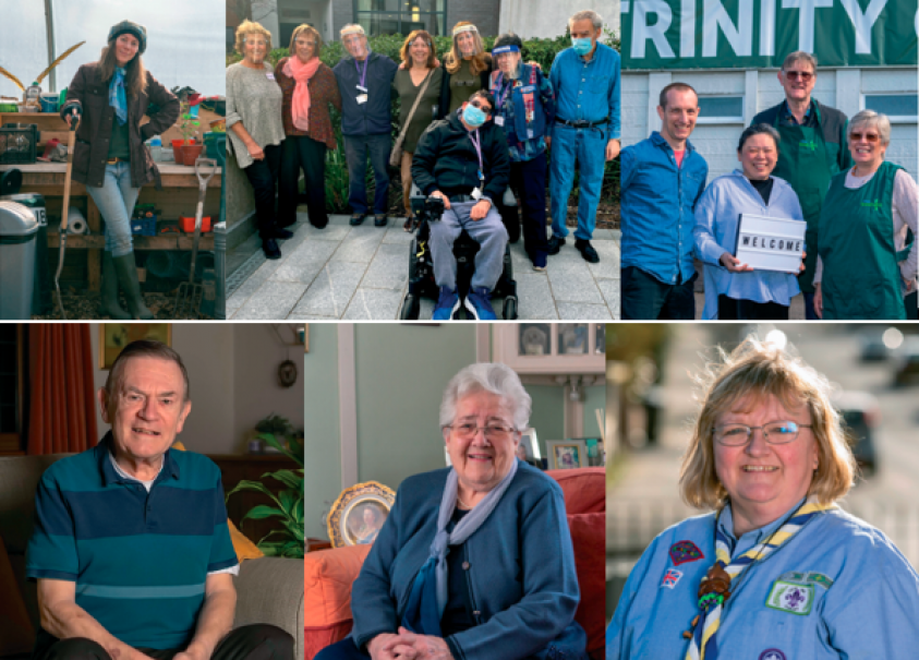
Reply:
[[[147, 49], [143, 25], [122, 21], [109, 31], [98, 62], [84, 64], [73, 76], [61, 117], [78, 121], [73, 151], [73, 180], [86, 191], [106, 220], [99, 313], [110, 319], [153, 319], [137, 280], [131, 215], [144, 183], [159, 187], [159, 170], [144, 141], [171, 127], [179, 100], [144, 69]], [[148, 106], [158, 110], [141, 125]], [[128, 311], [118, 301], [124, 291]]]

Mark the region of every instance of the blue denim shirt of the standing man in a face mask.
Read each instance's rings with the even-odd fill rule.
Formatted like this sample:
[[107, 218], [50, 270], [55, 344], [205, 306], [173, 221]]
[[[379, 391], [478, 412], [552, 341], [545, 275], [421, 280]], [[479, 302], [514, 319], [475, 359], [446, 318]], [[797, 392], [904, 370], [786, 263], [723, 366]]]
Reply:
[[[552, 63], [549, 81], [557, 117], [566, 121], [609, 119], [607, 140], [619, 139], [619, 53], [597, 41], [590, 62], [566, 48]], [[552, 136], [552, 127], [548, 135]]]

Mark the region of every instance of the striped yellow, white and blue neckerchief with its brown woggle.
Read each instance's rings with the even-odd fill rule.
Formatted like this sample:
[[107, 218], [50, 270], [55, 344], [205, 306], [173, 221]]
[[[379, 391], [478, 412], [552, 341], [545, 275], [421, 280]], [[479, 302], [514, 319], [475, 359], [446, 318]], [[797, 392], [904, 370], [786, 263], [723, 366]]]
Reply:
[[[734, 543], [718, 529], [715, 518], [715, 565], [702, 578], [699, 586], [699, 609], [702, 613], [693, 620], [694, 628], [686, 650], [686, 660], [717, 660], [718, 645], [715, 635], [721, 625], [722, 607], [730, 597], [730, 584], [739, 578], [747, 568], [759, 560], [781, 548], [805, 526], [813, 516], [836, 508], [835, 504], [820, 504], [817, 496], [811, 495], [791, 517], [763, 542], [731, 560]], [[739, 580], [738, 580], [739, 581]]]

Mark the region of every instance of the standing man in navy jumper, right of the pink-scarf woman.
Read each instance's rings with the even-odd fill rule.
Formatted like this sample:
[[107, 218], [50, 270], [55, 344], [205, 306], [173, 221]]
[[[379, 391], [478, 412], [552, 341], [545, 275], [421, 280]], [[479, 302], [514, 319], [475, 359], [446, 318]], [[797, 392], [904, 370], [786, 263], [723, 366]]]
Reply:
[[351, 57], [332, 68], [341, 92], [341, 133], [348, 161], [348, 205], [351, 225], [360, 225], [367, 214], [367, 156], [373, 167], [376, 191], [373, 199], [374, 225], [386, 226], [389, 194], [389, 133], [392, 130], [390, 98], [398, 67], [385, 55], [371, 52], [367, 35], [360, 25], [341, 28], [341, 43]]

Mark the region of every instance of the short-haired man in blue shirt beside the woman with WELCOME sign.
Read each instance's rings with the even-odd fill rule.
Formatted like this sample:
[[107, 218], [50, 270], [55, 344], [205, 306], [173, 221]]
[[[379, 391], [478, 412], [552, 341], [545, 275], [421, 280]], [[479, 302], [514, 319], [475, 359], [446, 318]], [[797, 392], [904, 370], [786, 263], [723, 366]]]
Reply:
[[692, 321], [692, 227], [709, 166], [688, 139], [699, 97], [684, 83], [661, 91], [661, 132], [622, 151], [622, 320]]

